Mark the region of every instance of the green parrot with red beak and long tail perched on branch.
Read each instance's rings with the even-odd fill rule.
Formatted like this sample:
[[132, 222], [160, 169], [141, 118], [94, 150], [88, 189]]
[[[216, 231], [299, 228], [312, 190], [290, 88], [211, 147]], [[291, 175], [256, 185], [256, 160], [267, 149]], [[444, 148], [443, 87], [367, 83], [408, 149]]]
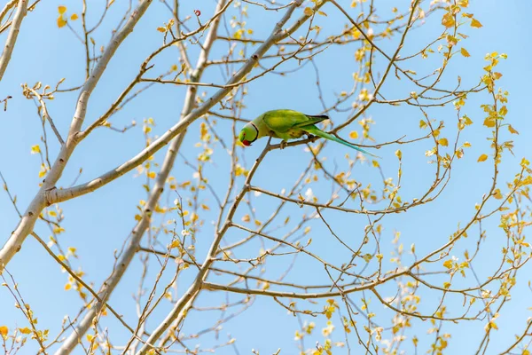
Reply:
[[316, 127], [316, 123], [328, 119], [329, 117], [325, 114], [310, 115], [301, 114], [301, 112], [293, 110], [272, 110], [261, 114], [252, 122], [246, 123], [244, 128], [240, 130], [239, 141], [242, 142], [244, 146], [251, 146], [251, 144], [258, 138], [270, 136], [283, 139], [281, 147], [284, 147], [288, 139], [301, 138], [303, 134], [307, 134], [329, 139], [344, 146], [356, 149], [364, 154], [378, 157], [377, 155], [366, 152], [364, 149], [352, 145], [343, 139], [332, 136], [332, 134], [324, 132]]

